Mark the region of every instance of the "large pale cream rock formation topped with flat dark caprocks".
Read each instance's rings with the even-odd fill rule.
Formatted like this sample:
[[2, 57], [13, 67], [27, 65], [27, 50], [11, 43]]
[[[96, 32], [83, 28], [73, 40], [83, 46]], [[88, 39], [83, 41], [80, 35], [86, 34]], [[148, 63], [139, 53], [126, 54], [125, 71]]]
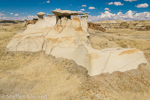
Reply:
[[[90, 76], [114, 71], [136, 69], [147, 63], [144, 54], [135, 48], [93, 49], [87, 36], [87, 15], [76, 11], [56, 11], [54, 15], [38, 13], [38, 22], [15, 35], [7, 45], [8, 51], [45, 51], [46, 54], [74, 60], [88, 70]], [[73, 18], [71, 19], [71, 15]]]

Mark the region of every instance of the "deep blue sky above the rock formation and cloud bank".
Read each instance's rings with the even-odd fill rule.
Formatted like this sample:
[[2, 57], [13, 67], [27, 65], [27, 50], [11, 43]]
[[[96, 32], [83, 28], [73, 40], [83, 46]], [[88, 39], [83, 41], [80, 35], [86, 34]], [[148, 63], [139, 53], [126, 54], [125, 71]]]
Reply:
[[[34, 17], [37, 12], [52, 14], [52, 10], [73, 10], [90, 12], [90, 17], [98, 17], [107, 14], [121, 12], [126, 14], [132, 11], [134, 14], [150, 12], [150, 0], [0, 0], [1, 19], [24, 19]], [[110, 14], [108, 14], [108, 12]], [[131, 12], [130, 12], [131, 13]], [[148, 14], [148, 13], [147, 13]], [[113, 15], [112, 15], [113, 16]], [[146, 15], [149, 16], [149, 15]], [[107, 19], [109, 19], [107, 18]], [[146, 17], [148, 18], [148, 17]], [[93, 20], [93, 19], [92, 19]]]

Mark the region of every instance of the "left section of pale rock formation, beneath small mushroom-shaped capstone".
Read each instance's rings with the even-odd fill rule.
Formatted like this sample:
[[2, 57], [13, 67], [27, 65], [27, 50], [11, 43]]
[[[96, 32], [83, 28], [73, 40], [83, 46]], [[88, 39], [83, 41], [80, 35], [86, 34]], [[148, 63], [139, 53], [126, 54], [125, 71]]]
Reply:
[[35, 25], [28, 25], [23, 33], [16, 34], [7, 45], [9, 51], [41, 51], [44, 43], [44, 35], [54, 26], [54, 21], [47, 22], [43, 19], [45, 13], [40, 12], [38, 22]]

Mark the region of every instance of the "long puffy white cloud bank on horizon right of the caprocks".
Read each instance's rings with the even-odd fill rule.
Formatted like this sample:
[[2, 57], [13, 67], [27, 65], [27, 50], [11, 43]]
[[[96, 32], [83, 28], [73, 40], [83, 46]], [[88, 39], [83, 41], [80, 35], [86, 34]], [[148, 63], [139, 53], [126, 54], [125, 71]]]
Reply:
[[110, 13], [105, 11], [98, 16], [89, 15], [88, 21], [101, 21], [101, 20], [150, 20], [149, 12], [136, 13], [135, 11], [129, 10], [125, 14], [122, 12]]

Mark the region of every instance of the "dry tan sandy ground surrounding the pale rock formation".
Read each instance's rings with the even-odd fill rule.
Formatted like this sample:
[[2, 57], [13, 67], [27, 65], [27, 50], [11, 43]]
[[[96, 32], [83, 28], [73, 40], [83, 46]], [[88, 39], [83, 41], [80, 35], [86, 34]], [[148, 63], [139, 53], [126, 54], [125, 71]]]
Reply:
[[[6, 45], [22, 24], [0, 27], [0, 100], [29, 95], [24, 100], [150, 100], [150, 67], [88, 76], [74, 61], [43, 52], [7, 52]], [[150, 31], [88, 29], [95, 49], [138, 48], [150, 63]], [[35, 96], [33, 98], [31, 95]], [[41, 97], [43, 96], [43, 98]]]

